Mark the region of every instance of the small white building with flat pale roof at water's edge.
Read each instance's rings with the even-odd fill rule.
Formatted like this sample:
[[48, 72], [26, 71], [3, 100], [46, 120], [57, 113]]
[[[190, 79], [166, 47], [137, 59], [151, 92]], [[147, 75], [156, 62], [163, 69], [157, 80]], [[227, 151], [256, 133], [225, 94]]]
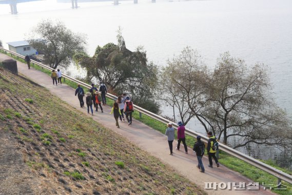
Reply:
[[32, 55], [35, 54], [36, 50], [29, 45], [27, 41], [15, 41], [7, 43], [9, 50], [21, 55]]

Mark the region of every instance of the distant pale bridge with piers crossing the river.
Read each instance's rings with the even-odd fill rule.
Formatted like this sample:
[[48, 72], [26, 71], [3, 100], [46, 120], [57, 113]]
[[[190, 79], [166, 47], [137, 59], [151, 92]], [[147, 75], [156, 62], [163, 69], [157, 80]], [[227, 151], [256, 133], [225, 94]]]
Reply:
[[[0, 4], [9, 4], [11, 14], [17, 14], [16, 4], [25, 3], [25, 2], [35, 2], [42, 0], [0, 0]], [[72, 8], [78, 8], [77, 2], [104, 2], [104, 1], [112, 1], [112, 0], [58, 0], [58, 3], [71, 3]], [[138, 0], [133, 0], [134, 4], [138, 4]], [[152, 3], [155, 3], [156, 0], [151, 0]], [[119, 5], [119, 0], [113, 0], [113, 5]]]

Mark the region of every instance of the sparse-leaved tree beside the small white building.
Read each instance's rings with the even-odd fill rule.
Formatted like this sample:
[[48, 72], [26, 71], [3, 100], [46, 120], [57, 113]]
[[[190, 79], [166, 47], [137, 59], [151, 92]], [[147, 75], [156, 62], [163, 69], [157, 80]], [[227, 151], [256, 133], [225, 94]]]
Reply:
[[68, 67], [73, 55], [85, 52], [86, 47], [85, 35], [73, 33], [61, 21], [53, 23], [50, 19], [38, 23], [27, 40], [54, 69], [58, 65]]

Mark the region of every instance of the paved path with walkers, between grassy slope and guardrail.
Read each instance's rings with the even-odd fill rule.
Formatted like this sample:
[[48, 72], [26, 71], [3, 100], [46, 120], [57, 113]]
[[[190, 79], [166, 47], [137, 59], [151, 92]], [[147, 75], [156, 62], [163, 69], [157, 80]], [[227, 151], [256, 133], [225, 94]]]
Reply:
[[[0, 53], [0, 61], [11, 59], [11, 57]], [[87, 108], [80, 108], [79, 100], [74, 96], [75, 89], [62, 84], [62, 86], [55, 86], [52, 84], [51, 77], [47, 74], [31, 68], [28, 70], [27, 65], [17, 61], [18, 73], [28, 77], [30, 80], [42, 85], [43, 87], [49, 89], [52, 94], [60, 97], [63, 101], [72, 105], [76, 109], [87, 114]], [[85, 99], [84, 99], [85, 100]], [[205, 173], [199, 172], [196, 165], [197, 157], [192, 152], [191, 148], [188, 148], [189, 154], [184, 153], [183, 147], [182, 151], [177, 151], [176, 144], [177, 141], [173, 142], [174, 154], [169, 155], [169, 147], [167, 143], [167, 138], [162, 133], [153, 130], [152, 128], [146, 126], [143, 123], [133, 120], [131, 126], [127, 123], [120, 122], [120, 129], [115, 127], [115, 121], [110, 112], [109, 106], [104, 106], [104, 113], [95, 112], [92, 118], [95, 121], [103, 124], [104, 126], [114, 130], [117, 133], [125, 136], [129, 141], [138, 145], [141, 149], [151, 153], [153, 156], [159, 158], [162, 162], [168, 163], [190, 181], [196, 183], [202, 188], [205, 188], [205, 182], [245, 182], [246, 184], [252, 182], [251, 180], [243, 177], [239, 173], [232, 171], [225, 166], [221, 165], [219, 168], [209, 168], [208, 159], [203, 158], [203, 164], [205, 166]], [[142, 116], [143, 117], [143, 116]], [[227, 189], [206, 189], [208, 194], [274, 194], [268, 190], [227, 190]]]

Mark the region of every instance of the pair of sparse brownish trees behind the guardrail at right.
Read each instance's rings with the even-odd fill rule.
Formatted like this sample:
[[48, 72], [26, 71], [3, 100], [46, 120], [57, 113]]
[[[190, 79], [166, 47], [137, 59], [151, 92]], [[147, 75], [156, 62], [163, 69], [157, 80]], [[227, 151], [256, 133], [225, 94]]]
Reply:
[[270, 96], [268, 72], [267, 66], [247, 66], [228, 52], [211, 71], [198, 52], [187, 47], [162, 71], [162, 99], [195, 116], [224, 144], [240, 137], [234, 148], [249, 143], [289, 148], [291, 121]]

